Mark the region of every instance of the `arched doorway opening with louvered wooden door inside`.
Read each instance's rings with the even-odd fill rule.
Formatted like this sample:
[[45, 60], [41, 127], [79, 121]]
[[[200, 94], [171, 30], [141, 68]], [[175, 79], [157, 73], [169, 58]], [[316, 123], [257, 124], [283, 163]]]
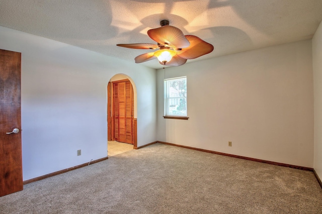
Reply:
[[108, 155], [137, 149], [136, 87], [125, 74], [114, 75], [107, 87]]

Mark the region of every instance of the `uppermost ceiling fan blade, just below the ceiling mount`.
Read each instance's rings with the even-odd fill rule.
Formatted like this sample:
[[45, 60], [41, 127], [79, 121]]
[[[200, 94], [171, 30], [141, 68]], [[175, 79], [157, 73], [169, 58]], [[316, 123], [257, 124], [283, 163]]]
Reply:
[[183, 32], [170, 25], [150, 29], [147, 31], [147, 35], [155, 42], [172, 48], [187, 48], [190, 45]]

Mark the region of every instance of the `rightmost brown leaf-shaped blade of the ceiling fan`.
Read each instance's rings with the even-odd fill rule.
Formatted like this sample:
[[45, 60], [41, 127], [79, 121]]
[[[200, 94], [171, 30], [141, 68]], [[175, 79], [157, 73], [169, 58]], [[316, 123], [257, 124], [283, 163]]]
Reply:
[[208, 54], [213, 51], [213, 46], [197, 36], [186, 35], [187, 40], [190, 42], [190, 46], [177, 51], [177, 55], [185, 59], [195, 59], [202, 55]]

